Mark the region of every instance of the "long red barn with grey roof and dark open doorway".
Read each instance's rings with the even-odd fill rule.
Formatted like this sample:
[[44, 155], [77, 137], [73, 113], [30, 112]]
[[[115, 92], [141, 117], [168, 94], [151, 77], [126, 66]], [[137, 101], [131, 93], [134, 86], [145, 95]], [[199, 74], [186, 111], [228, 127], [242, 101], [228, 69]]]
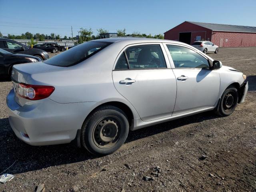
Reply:
[[166, 31], [164, 39], [192, 44], [209, 40], [220, 47], [256, 46], [256, 27], [185, 21]]

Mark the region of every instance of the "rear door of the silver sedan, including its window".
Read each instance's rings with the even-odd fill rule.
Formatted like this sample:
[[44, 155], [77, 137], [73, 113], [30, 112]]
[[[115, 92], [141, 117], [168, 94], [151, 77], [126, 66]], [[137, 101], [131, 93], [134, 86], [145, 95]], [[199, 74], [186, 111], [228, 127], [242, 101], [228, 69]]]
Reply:
[[162, 44], [124, 48], [112, 71], [116, 90], [137, 110], [142, 121], [172, 116], [176, 78]]

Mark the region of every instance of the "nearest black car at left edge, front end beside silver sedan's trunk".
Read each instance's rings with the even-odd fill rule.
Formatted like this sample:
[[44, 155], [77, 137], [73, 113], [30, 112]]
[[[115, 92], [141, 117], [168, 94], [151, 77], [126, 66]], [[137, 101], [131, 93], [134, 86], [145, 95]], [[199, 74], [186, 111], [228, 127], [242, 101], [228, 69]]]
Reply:
[[11, 76], [12, 66], [15, 64], [38, 61], [42, 61], [41, 58], [31, 55], [13, 54], [6, 50], [0, 49], [0, 76]]

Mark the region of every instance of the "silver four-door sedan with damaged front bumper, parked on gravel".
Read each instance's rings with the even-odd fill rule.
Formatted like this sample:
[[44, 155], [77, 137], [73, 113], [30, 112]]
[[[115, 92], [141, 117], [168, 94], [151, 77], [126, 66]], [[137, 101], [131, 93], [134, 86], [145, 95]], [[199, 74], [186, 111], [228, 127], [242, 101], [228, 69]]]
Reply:
[[108, 38], [15, 65], [6, 102], [10, 125], [24, 142], [74, 141], [106, 155], [130, 130], [209, 110], [230, 115], [244, 102], [245, 79], [182, 42]]

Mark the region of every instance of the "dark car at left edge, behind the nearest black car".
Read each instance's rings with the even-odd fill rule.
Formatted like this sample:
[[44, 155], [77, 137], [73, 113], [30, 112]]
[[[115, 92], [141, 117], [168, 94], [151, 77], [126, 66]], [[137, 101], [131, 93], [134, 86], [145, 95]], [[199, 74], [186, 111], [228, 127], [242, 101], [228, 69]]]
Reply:
[[26, 55], [32, 55], [47, 60], [49, 55], [47, 52], [39, 49], [30, 48], [19, 42], [10, 39], [0, 38], [0, 48], [11, 53], [20, 53]]

